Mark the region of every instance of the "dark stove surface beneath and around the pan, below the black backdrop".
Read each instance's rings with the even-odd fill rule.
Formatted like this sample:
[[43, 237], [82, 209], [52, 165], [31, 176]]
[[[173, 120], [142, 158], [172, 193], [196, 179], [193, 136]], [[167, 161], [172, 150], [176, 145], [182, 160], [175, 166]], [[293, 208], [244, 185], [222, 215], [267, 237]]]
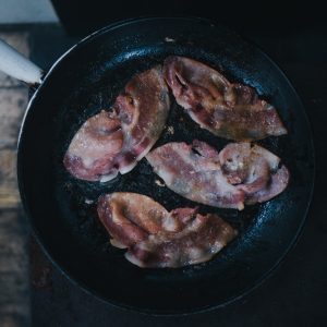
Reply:
[[[75, 39], [59, 26], [35, 27], [32, 60], [47, 69]], [[69, 281], [32, 238], [32, 326], [324, 326], [327, 320], [327, 219], [323, 208], [327, 159], [327, 33], [243, 31], [289, 77], [304, 102], [316, 149], [314, 199], [303, 234], [277, 271], [246, 298], [204, 314], [154, 317], [112, 307]], [[292, 155], [292, 154], [290, 154]]]

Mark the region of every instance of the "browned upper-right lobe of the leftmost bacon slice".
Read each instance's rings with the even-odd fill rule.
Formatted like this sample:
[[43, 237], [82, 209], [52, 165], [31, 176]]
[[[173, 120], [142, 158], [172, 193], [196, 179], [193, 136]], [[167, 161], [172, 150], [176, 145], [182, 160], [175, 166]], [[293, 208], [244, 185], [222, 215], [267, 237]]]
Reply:
[[159, 138], [170, 108], [161, 66], [132, 78], [114, 109], [122, 124], [124, 144], [117, 158], [120, 173], [131, 171]]

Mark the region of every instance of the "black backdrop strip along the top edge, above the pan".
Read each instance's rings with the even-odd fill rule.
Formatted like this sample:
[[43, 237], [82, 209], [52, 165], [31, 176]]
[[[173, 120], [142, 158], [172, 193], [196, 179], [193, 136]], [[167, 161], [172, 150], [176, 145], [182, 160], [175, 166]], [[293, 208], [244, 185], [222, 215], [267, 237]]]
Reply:
[[[146, 15], [192, 15], [210, 19], [237, 31], [300, 32], [323, 27], [324, 1], [237, 0], [51, 0], [66, 32], [88, 34], [106, 24]], [[320, 2], [320, 3], [319, 3]]]

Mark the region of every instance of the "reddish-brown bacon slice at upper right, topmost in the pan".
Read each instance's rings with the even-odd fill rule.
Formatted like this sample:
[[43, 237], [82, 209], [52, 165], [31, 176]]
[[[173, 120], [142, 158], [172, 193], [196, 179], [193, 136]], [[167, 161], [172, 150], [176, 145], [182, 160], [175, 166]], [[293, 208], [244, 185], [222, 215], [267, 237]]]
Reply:
[[287, 133], [275, 107], [246, 85], [230, 83], [216, 70], [184, 57], [168, 57], [166, 81], [180, 106], [203, 129], [235, 141]]

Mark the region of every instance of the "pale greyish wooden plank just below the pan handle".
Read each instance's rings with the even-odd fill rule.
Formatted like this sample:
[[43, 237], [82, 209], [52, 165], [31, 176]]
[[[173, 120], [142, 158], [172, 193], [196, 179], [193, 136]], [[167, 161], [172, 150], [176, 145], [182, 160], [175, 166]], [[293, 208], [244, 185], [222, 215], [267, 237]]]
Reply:
[[27, 106], [27, 88], [0, 88], [0, 149], [15, 148]]

